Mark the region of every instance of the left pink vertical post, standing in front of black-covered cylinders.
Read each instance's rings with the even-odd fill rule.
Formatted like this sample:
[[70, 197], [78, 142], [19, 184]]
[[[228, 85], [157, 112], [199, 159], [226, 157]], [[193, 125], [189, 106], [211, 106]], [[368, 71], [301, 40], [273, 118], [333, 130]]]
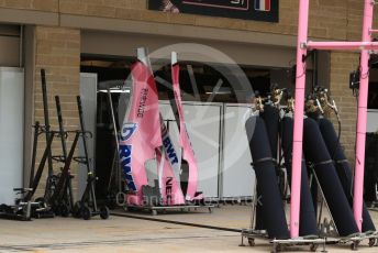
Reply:
[[290, 204], [290, 237], [299, 237], [299, 212], [301, 198], [301, 167], [302, 167], [302, 139], [303, 139], [303, 108], [305, 89], [307, 55], [303, 46], [308, 40], [309, 0], [299, 0], [299, 22], [297, 42], [297, 77], [296, 77], [296, 107], [294, 129], [292, 142], [292, 175], [291, 175], [291, 204]]

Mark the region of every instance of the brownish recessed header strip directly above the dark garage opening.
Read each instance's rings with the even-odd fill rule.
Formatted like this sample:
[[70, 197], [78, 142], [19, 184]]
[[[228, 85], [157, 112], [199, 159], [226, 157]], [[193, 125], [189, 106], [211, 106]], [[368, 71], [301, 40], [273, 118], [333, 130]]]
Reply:
[[[218, 50], [241, 65], [290, 67], [296, 58], [296, 48], [266, 46], [260, 44], [226, 43], [211, 40], [192, 40], [170, 36], [144, 35], [135, 33], [111, 33], [84, 31], [81, 33], [81, 53], [94, 55], [135, 56], [136, 48], [148, 47], [149, 53], [159, 57], [170, 58], [170, 52], [182, 51], [184, 43], [198, 43]], [[181, 48], [175, 46], [181, 44]], [[105, 46], [104, 46], [105, 45]], [[165, 48], [169, 46], [169, 48]], [[203, 53], [200, 53], [202, 50]], [[156, 52], [158, 51], [158, 52]], [[180, 61], [222, 63], [221, 55], [209, 55], [201, 47], [190, 46], [186, 54], [180, 54]], [[224, 59], [225, 61], [225, 59]], [[310, 66], [311, 67], [311, 66]]]

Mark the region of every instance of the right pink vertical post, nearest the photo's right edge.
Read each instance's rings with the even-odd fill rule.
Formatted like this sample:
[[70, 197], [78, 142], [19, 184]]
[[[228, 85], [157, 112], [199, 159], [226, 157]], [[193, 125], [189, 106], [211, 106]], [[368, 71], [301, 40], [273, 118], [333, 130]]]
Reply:
[[[371, 0], [365, 0], [363, 42], [370, 42], [370, 29], [373, 24]], [[356, 165], [354, 180], [354, 202], [353, 210], [359, 231], [363, 224], [363, 191], [364, 191], [364, 166], [365, 166], [365, 141], [367, 121], [367, 95], [369, 87], [369, 52], [363, 50], [360, 53], [360, 79], [357, 116], [357, 136], [356, 136]]]

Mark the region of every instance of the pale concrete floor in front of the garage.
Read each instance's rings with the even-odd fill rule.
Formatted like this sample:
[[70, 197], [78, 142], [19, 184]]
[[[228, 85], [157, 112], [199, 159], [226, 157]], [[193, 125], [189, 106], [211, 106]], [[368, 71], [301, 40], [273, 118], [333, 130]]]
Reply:
[[[213, 213], [158, 215], [167, 219], [231, 229], [248, 227], [251, 206], [222, 206]], [[133, 213], [135, 215], [135, 213]], [[149, 215], [136, 215], [148, 217]], [[378, 227], [378, 212], [371, 212]], [[0, 252], [269, 252], [267, 241], [257, 240], [255, 248], [241, 248], [240, 233], [194, 228], [141, 219], [110, 217], [84, 221], [73, 218], [0, 220]], [[348, 245], [329, 245], [329, 252], [349, 251]], [[308, 246], [291, 249], [308, 251]], [[320, 252], [320, 250], [319, 250]], [[359, 252], [378, 252], [363, 242]]]

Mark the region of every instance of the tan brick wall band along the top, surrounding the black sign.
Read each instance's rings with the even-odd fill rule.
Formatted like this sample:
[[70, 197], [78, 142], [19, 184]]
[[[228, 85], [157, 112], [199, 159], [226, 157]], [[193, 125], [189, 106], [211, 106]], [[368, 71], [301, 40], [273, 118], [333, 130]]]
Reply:
[[[41, 10], [79, 15], [143, 20], [244, 31], [297, 34], [299, 0], [279, 1], [279, 23], [243, 21], [147, 10], [147, 0], [0, 0], [0, 7]], [[310, 0], [309, 34], [319, 38], [360, 37], [362, 0]], [[376, 9], [377, 10], [377, 9]], [[376, 11], [378, 13], [378, 10]], [[378, 24], [378, 15], [376, 15]]]

